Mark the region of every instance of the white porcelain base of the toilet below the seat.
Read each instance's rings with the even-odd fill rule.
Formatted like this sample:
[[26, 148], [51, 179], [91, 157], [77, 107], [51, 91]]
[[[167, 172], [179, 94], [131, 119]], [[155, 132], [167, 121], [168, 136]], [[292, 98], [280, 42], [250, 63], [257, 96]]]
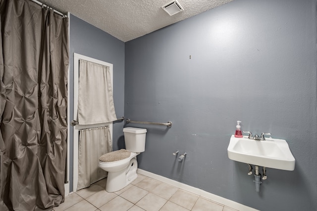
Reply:
[[136, 158], [132, 158], [128, 167], [118, 172], [108, 172], [106, 181], [106, 191], [116, 192], [126, 187], [137, 177], [138, 162]]

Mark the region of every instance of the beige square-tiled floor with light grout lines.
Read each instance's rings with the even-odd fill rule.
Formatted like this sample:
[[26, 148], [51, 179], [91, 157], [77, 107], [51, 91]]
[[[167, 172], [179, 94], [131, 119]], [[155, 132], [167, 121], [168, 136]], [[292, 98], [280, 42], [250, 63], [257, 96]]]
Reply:
[[53, 211], [236, 211], [142, 174], [114, 193], [105, 186], [102, 179], [72, 193]]

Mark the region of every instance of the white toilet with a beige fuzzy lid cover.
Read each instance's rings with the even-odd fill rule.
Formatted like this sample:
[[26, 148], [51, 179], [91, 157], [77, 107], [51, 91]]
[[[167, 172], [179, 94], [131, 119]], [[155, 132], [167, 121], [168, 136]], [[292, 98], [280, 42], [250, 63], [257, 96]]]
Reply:
[[126, 149], [109, 152], [99, 158], [99, 167], [108, 171], [107, 192], [121, 190], [138, 177], [137, 155], [145, 151], [146, 132], [144, 128], [123, 128]]

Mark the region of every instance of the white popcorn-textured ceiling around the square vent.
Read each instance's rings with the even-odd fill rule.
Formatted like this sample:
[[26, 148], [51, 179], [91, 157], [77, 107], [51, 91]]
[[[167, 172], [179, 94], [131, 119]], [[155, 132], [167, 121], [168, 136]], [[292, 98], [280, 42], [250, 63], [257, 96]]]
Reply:
[[184, 8], [169, 16], [161, 6], [171, 0], [40, 0], [81, 18], [127, 42], [232, 0], [178, 0]]

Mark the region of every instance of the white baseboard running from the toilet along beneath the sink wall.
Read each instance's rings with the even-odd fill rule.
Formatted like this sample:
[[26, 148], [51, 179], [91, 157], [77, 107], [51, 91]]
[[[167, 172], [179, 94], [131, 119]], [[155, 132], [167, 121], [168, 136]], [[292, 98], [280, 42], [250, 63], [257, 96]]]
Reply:
[[214, 194], [209, 193], [207, 191], [204, 191], [202, 189], [183, 184], [181, 182], [160, 176], [160, 175], [155, 174], [155, 173], [151, 173], [151, 172], [146, 171], [146, 170], [138, 169], [137, 172], [142, 174], [142, 175], [145, 175], [145, 176], [151, 177], [153, 179], [159, 180], [161, 182], [164, 182], [166, 184], [172, 185], [174, 187], [177, 187], [177, 188], [183, 189], [185, 191], [191, 192], [193, 194], [202, 196], [202, 197], [209, 199], [215, 203], [221, 204], [221, 205], [229, 207], [229, 208], [233, 208], [233, 209], [238, 210], [238, 211], [259, 211], [259, 210], [256, 210], [254, 208], [250, 208], [250, 207], [242, 205], [240, 203], [231, 201], [229, 199], [214, 195]]

